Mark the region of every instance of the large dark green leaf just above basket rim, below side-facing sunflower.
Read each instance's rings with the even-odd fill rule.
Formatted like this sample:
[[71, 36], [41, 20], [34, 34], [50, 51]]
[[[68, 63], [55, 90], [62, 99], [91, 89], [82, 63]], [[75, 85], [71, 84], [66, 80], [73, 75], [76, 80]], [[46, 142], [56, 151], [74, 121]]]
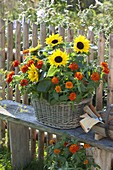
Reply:
[[42, 80], [37, 85], [37, 91], [38, 92], [47, 92], [51, 86], [50, 80]]

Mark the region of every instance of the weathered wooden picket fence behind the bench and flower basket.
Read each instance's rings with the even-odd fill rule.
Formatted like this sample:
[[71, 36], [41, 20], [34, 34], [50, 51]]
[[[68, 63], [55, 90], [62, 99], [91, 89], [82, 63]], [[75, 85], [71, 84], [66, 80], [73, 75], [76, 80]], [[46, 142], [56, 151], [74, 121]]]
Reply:
[[[31, 32], [32, 30], [32, 32]], [[73, 41], [75, 36], [74, 30], [69, 28], [65, 30], [62, 27], [58, 27], [58, 33], [63, 37], [64, 40]], [[14, 24], [12, 22], [5, 23], [2, 19], [0, 19], [0, 69], [3, 70], [11, 70], [11, 64], [13, 60], [23, 60], [22, 51], [24, 49], [28, 49], [30, 45], [35, 47], [37, 45], [38, 40], [40, 43], [45, 46], [45, 38], [47, 34], [52, 34], [56, 32], [53, 26], [46, 28], [46, 25], [42, 23], [40, 26], [33, 24], [32, 29], [30, 25], [25, 23], [16, 22], [16, 27], [14, 29]], [[83, 34], [81, 31], [78, 31], [77, 34]], [[91, 41], [91, 43], [95, 43], [95, 35], [92, 31], [88, 31], [87, 38]], [[107, 77], [108, 79], [108, 89], [107, 89], [107, 105], [113, 103], [113, 34], [109, 35], [109, 50], [106, 49], [106, 40], [105, 36], [102, 32], [98, 34], [98, 50], [91, 50], [89, 60], [93, 60], [95, 56], [97, 56], [98, 63], [101, 63], [105, 60], [105, 52], [108, 51], [108, 63], [110, 68], [110, 73]], [[18, 73], [18, 69], [15, 70]], [[15, 100], [16, 102], [29, 104], [27, 95], [23, 97], [20, 95], [18, 89], [15, 90], [13, 94], [13, 90], [10, 89], [9, 85], [5, 83], [2, 79], [2, 75], [0, 75], [0, 98], [6, 100]], [[99, 86], [96, 92], [96, 109], [103, 109], [103, 84]], [[0, 140], [4, 138], [4, 121], [0, 120]], [[7, 124], [8, 127], [8, 124]], [[10, 127], [14, 128], [14, 127]], [[21, 129], [25, 134], [30, 131], [30, 140], [31, 140], [31, 156], [35, 157], [36, 153], [36, 129], [33, 128], [24, 128]], [[44, 156], [44, 136], [45, 133], [43, 131], [38, 131], [38, 157], [39, 159]], [[46, 143], [53, 137], [53, 134], [47, 133]], [[29, 136], [25, 135], [25, 140], [29, 141]], [[28, 154], [28, 153], [26, 153]]]

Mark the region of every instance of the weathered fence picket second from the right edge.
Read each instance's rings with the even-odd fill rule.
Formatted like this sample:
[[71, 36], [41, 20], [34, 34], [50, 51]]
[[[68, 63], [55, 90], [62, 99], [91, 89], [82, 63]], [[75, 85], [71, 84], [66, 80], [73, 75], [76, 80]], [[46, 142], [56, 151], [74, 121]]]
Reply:
[[[100, 65], [101, 62], [104, 61], [104, 51], [105, 51], [105, 36], [103, 32], [99, 33], [98, 40], [98, 63]], [[103, 108], [103, 83], [101, 82], [96, 91], [96, 110], [102, 110]]]

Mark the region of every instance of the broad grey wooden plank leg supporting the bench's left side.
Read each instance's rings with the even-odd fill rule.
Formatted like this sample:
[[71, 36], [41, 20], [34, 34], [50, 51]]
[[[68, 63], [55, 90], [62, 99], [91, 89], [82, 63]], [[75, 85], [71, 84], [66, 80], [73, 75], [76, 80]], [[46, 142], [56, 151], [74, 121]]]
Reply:
[[30, 163], [28, 127], [9, 122], [11, 163], [14, 170], [19, 170]]

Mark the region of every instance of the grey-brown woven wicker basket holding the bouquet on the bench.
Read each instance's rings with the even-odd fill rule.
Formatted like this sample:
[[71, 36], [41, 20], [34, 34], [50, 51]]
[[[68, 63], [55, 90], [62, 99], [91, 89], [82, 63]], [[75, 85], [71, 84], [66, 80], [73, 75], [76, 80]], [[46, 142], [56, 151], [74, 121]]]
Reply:
[[46, 100], [32, 99], [38, 121], [44, 125], [58, 128], [71, 129], [80, 126], [79, 120], [83, 108], [91, 99], [85, 99], [79, 104], [74, 104], [75, 111], [69, 104], [50, 105]]

